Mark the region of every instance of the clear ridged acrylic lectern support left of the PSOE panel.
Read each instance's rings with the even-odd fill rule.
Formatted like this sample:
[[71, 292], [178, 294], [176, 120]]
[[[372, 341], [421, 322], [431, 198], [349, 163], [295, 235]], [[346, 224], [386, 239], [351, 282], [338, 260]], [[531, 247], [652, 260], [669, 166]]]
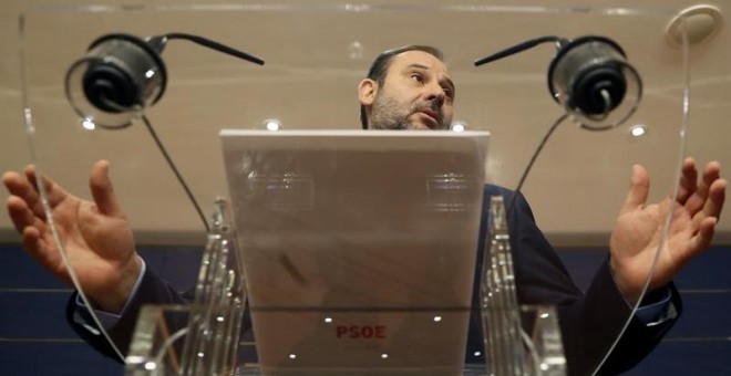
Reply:
[[246, 305], [244, 269], [227, 202], [218, 199], [189, 306], [145, 306], [126, 375], [230, 375]]

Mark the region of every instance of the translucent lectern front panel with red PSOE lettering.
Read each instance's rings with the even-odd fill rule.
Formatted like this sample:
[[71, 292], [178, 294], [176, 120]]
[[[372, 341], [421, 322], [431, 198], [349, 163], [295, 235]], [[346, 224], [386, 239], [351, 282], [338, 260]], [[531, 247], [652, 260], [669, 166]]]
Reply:
[[461, 372], [487, 134], [223, 136], [262, 372]]

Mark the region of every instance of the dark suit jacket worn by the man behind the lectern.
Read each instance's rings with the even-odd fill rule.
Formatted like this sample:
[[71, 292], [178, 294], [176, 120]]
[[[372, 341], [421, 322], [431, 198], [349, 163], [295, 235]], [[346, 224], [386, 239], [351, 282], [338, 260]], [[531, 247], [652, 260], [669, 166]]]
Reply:
[[[505, 188], [486, 185], [485, 198], [492, 195], [502, 195], [505, 202], [509, 202], [513, 192]], [[488, 208], [490, 200], [485, 199], [472, 296], [473, 307], [478, 306], [482, 250], [486, 240]], [[508, 213], [507, 220], [518, 302], [521, 304], [556, 305], [569, 375], [591, 375], [631, 313], [612, 280], [608, 259], [601, 264], [591, 285], [584, 293], [574, 284], [560, 259], [536, 226], [533, 212], [522, 195], [516, 198], [515, 209]], [[679, 294], [675, 286], [670, 285], [668, 289], [672, 296], [671, 307], [679, 314], [681, 310]], [[186, 299], [181, 293], [147, 269], [125, 314], [109, 331], [110, 336], [119, 348], [126, 351], [137, 313], [143, 304], [185, 302]], [[470, 322], [467, 363], [484, 362], [482, 356], [471, 356], [475, 349], [484, 352], [481, 317], [476, 312], [473, 310]], [[87, 316], [87, 311], [80, 309], [75, 303], [75, 296], [72, 296], [68, 309], [68, 317], [72, 327], [96, 349], [114, 356], [114, 352], [102, 336], [81, 324], [91, 322]], [[667, 320], [659, 325], [648, 326], [639, 320], [632, 318], [618, 346], [598, 374], [612, 375], [635, 366], [660, 342], [675, 321], [675, 318]]]

